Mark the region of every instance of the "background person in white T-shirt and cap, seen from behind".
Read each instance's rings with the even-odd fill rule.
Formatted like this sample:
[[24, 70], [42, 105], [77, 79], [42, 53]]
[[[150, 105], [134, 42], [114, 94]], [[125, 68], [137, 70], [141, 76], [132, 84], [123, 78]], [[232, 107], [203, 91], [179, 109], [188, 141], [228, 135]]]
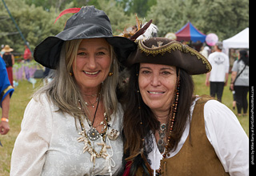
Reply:
[[224, 86], [229, 78], [230, 61], [228, 56], [222, 53], [222, 42], [216, 42], [214, 51], [208, 56], [213, 69], [206, 74], [206, 86], [210, 86], [210, 96], [217, 96], [218, 101], [222, 102]]

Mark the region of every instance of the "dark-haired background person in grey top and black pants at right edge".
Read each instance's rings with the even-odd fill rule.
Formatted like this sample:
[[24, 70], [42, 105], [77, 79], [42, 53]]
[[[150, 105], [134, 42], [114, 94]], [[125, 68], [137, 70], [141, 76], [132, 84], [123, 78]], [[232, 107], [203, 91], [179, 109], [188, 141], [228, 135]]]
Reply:
[[[234, 90], [238, 116], [247, 115], [249, 91], [249, 56], [246, 50], [240, 50], [238, 60], [234, 62], [232, 68], [230, 89]], [[234, 80], [234, 81], [233, 81]]]

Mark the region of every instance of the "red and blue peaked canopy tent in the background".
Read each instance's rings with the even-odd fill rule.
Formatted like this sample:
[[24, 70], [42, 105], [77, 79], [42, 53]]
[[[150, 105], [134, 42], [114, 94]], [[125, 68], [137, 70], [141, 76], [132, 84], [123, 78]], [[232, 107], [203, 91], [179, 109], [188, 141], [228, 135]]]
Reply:
[[205, 42], [206, 40], [206, 34], [202, 34], [202, 32], [196, 29], [191, 22], [187, 22], [182, 29], [178, 30], [176, 37], [178, 42], [181, 42], [182, 40], [186, 42]]

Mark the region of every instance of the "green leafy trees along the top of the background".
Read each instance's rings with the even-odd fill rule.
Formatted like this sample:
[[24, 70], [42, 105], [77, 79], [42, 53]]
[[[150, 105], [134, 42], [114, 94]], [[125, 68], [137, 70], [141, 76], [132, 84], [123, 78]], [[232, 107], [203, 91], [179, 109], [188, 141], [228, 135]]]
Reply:
[[[109, 16], [115, 35], [135, 25], [135, 14], [146, 21], [153, 19], [158, 36], [177, 32], [186, 24], [204, 34], [215, 33], [219, 40], [232, 37], [249, 26], [249, 0], [5, 0], [10, 13], [30, 43], [30, 48], [48, 36], [58, 34], [72, 14], [54, 24], [58, 14], [67, 8], [95, 6]], [[10, 45], [22, 53], [25, 43], [0, 1], [0, 45]]]

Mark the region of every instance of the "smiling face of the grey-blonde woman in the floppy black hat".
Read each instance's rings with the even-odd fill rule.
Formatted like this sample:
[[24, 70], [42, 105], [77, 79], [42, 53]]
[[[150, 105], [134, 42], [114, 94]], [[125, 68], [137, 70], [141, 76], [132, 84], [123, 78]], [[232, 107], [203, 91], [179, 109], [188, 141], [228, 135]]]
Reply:
[[72, 63], [74, 78], [82, 91], [98, 91], [109, 74], [110, 62], [110, 45], [104, 38], [82, 39]]

